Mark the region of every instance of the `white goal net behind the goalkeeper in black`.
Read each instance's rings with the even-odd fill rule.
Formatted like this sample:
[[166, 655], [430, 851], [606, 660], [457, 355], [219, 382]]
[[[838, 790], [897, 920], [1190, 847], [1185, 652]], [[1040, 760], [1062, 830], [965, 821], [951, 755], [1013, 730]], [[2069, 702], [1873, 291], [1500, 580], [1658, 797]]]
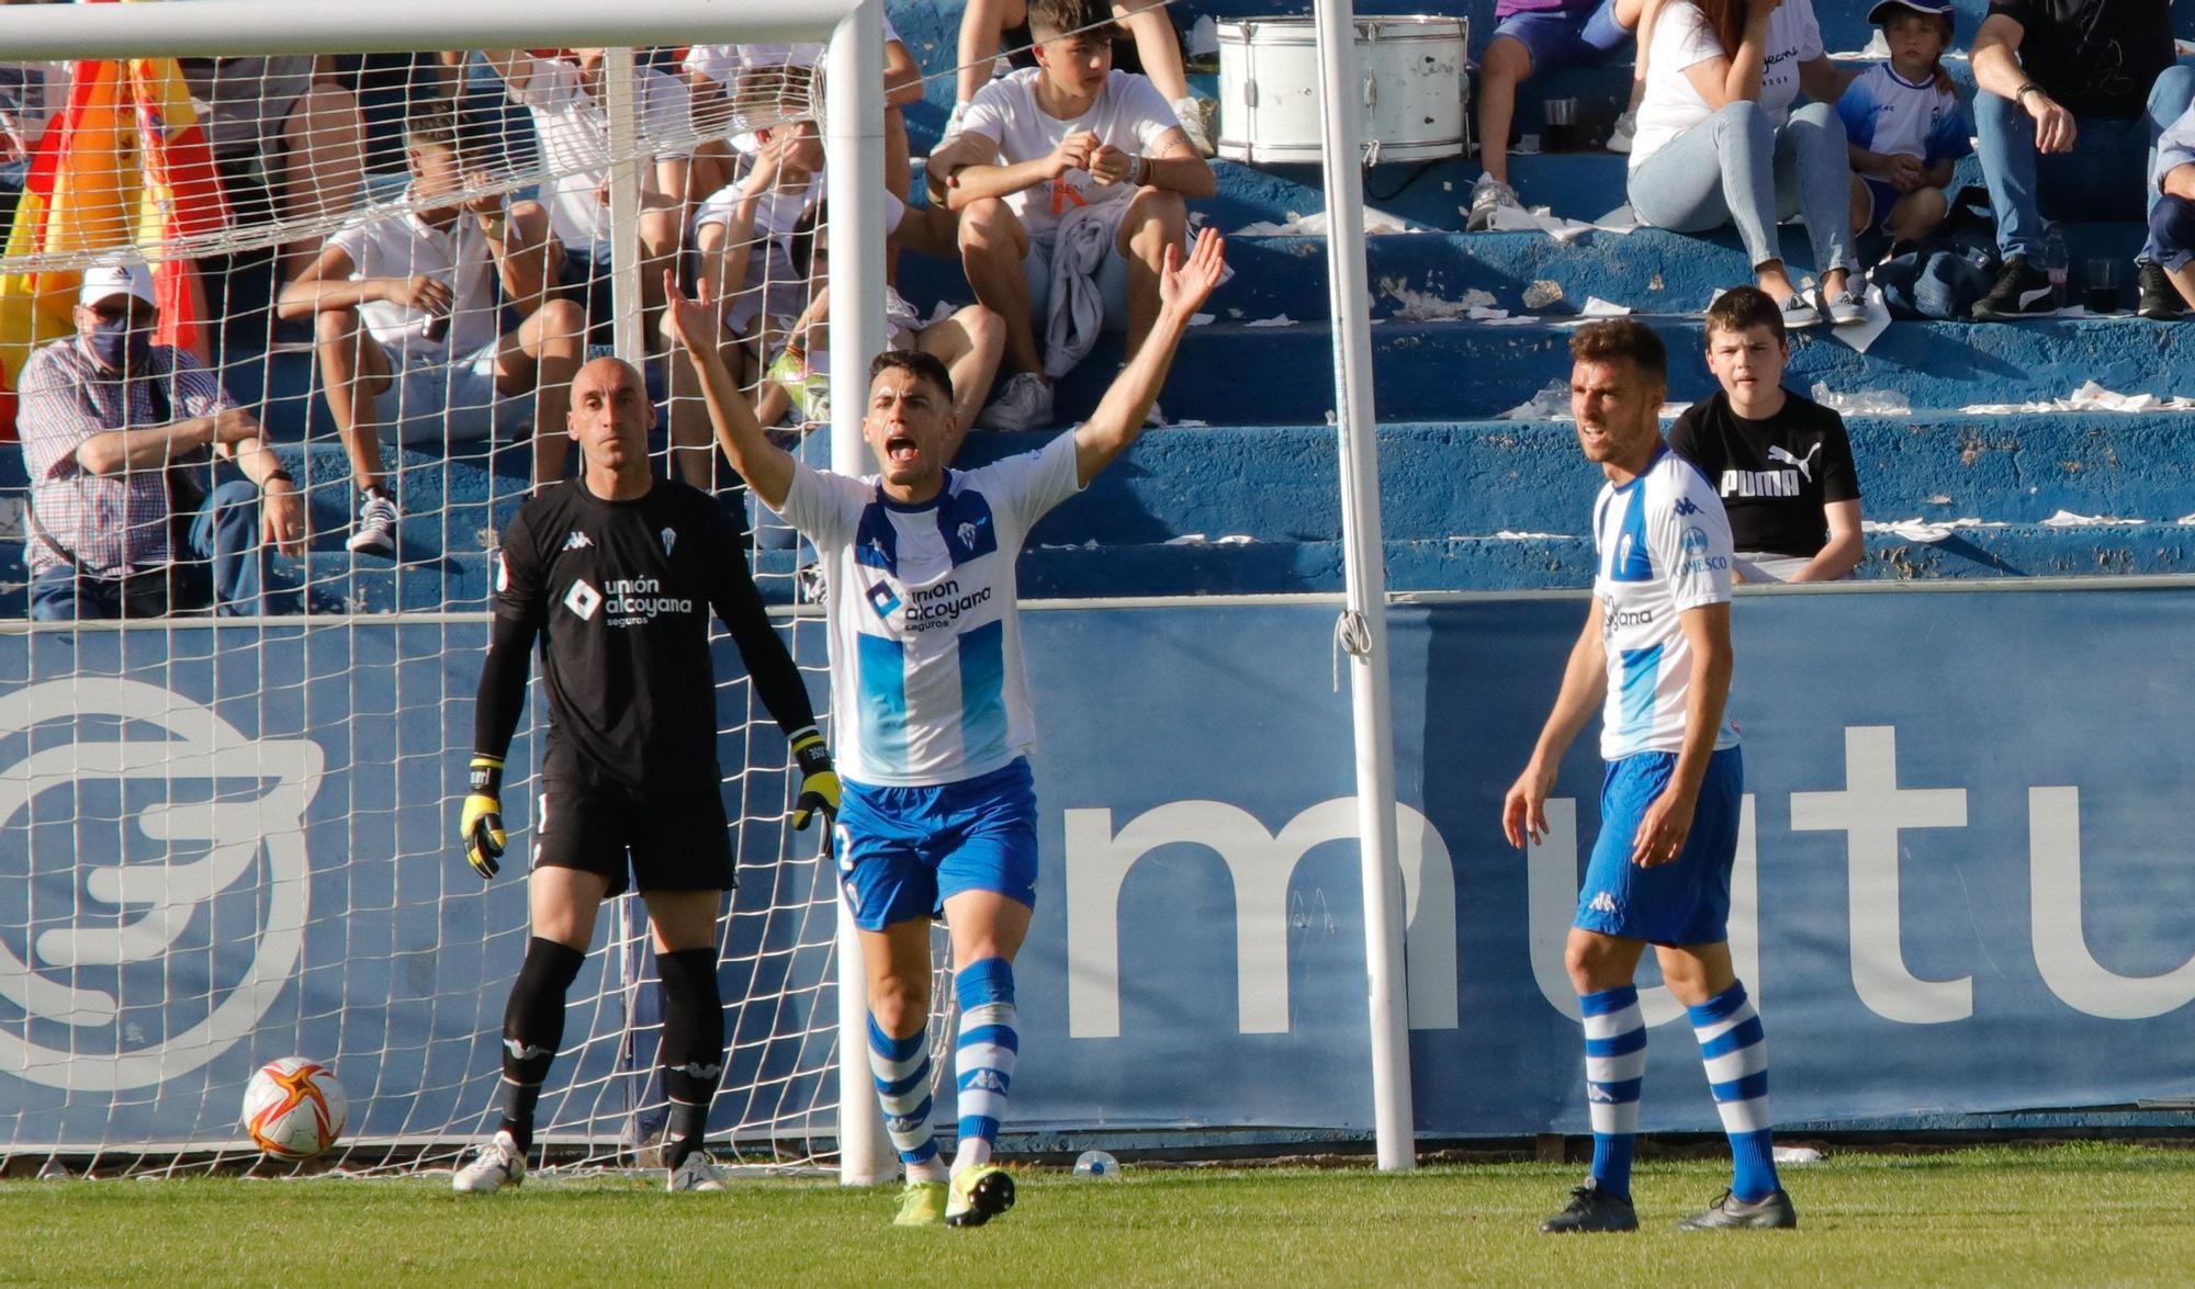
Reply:
[[[619, 15], [658, 44], [604, 50], [573, 42], [608, 20], [564, 0], [215, 0], [189, 4], [187, 37], [125, 13], [143, 9], [35, 11], [31, 42], [26, 11], [0, 11], [0, 48], [55, 57], [0, 66], [24, 162], [0, 263], [0, 1155], [246, 1162], [246, 1081], [305, 1054], [349, 1094], [325, 1162], [446, 1166], [494, 1125], [547, 721], [536, 684], [509, 857], [483, 886], [454, 824], [494, 548], [536, 487], [577, 471], [582, 362], [643, 370], [658, 474], [740, 517], [825, 710], [812, 552], [709, 447], [656, 318], [665, 270], [707, 289], [773, 434], [828, 465], [830, 333], [806, 272], [821, 46], [740, 39], [821, 39], [836, 13], [773, 7], [727, 33], [669, 2]], [[268, 31], [296, 22], [325, 48]], [[119, 48], [119, 31], [147, 35]], [[391, 31], [470, 39], [389, 53]], [[880, 246], [882, 199], [863, 197], [832, 215], [841, 246]], [[116, 379], [116, 353], [149, 377]], [[83, 447], [193, 417], [219, 460]], [[261, 563], [259, 533], [288, 548]], [[830, 1166], [836, 883], [819, 831], [788, 826], [786, 741], [729, 640], [716, 664], [694, 701], [722, 719], [740, 888], [709, 1140], [733, 1164]], [[538, 1142], [553, 1164], [630, 1164], [665, 1107], [634, 897], [604, 905], [569, 1000]], [[865, 1065], [858, 1083], [874, 1116]]]

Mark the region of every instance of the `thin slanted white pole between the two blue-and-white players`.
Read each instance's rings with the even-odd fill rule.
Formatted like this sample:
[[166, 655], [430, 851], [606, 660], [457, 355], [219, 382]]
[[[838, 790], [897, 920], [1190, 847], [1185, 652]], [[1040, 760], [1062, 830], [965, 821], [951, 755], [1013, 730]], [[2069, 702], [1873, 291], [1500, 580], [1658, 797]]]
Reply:
[[1365, 978], [1372, 1004], [1372, 1122], [1378, 1166], [1414, 1168], [1409, 1017], [1403, 986], [1403, 870], [1394, 826], [1394, 712], [1387, 695], [1387, 566], [1378, 522], [1378, 443], [1372, 419], [1370, 270], [1365, 267], [1363, 75], [1350, 0], [1313, 2], [1319, 42], [1319, 134], [1326, 171], [1326, 281], [1335, 335], [1335, 421], [1341, 430], [1341, 544], [1357, 715], [1357, 833], [1363, 840]]

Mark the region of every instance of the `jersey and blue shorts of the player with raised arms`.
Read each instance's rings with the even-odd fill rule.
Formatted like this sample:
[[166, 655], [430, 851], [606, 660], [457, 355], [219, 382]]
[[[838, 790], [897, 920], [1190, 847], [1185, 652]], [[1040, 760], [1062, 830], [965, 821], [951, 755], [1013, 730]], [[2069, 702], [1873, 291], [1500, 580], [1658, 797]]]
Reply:
[[926, 919], [959, 890], [1036, 901], [1036, 743], [1014, 559], [1080, 489], [1073, 434], [946, 471], [931, 502], [795, 465], [784, 517], [823, 559], [838, 866], [867, 929]]

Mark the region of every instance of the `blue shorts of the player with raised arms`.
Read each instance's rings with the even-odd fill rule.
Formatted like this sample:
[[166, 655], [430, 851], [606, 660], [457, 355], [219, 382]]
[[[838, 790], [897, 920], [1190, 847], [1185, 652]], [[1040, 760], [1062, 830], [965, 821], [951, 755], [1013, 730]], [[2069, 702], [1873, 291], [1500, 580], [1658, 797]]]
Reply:
[[1029, 761], [942, 787], [845, 780], [838, 881], [865, 932], [928, 919], [964, 890], [1036, 908], [1036, 778]]

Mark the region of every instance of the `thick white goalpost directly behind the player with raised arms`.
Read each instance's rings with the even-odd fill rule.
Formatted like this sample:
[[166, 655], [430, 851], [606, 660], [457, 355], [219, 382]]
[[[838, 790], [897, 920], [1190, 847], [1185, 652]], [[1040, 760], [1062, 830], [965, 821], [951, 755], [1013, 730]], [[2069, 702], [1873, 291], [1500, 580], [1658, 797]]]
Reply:
[[[830, 180], [830, 465], [869, 474], [860, 441], [869, 357], [885, 349], [885, 15], [860, 0], [830, 42], [823, 156]], [[869, 1076], [869, 978], [854, 919], [838, 899], [838, 1182], [898, 1177]]]

